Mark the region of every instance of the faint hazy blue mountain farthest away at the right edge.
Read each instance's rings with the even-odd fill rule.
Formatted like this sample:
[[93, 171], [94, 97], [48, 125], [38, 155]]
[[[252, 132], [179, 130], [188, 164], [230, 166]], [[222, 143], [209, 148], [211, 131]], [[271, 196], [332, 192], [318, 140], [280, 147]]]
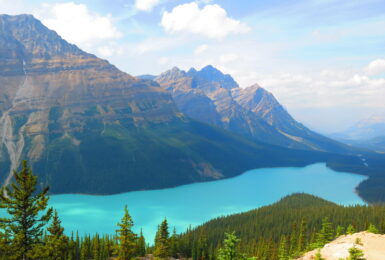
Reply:
[[370, 140], [385, 135], [385, 116], [372, 115], [361, 120], [346, 131], [334, 133], [330, 136], [338, 140]]

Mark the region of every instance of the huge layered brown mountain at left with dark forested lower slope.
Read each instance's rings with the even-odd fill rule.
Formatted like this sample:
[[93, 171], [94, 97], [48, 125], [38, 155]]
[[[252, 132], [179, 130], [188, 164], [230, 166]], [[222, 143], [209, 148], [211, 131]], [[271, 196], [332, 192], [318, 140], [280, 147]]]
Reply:
[[[156, 82], [82, 51], [30, 15], [0, 16], [0, 68], [5, 184], [22, 159], [53, 193], [111, 194], [338, 158], [252, 142], [190, 119]], [[199, 75], [200, 87], [211, 77], [226, 91], [236, 87], [213, 68]], [[203, 94], [197, 100], [217, 114]]]

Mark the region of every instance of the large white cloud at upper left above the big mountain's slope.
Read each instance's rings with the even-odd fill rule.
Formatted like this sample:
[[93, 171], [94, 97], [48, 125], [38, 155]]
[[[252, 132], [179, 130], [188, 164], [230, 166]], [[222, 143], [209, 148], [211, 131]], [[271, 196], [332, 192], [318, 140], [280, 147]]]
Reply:
[[[122, 36], [113, 25], [111, 15], [92, 13], [84, 4], [45, 4], [37, 16], [44, 25], [55, 30], [65, 40], [86, 50], [98, 42]], [[106, 49], [103, 51], [107, 53]]]

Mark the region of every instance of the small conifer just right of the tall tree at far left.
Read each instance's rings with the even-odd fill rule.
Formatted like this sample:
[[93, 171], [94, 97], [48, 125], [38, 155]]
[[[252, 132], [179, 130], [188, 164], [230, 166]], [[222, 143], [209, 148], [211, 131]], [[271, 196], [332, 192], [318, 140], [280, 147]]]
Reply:
[[61, 260], [65, 259], [67, 252], [69, 251], [68, 237], [64, 234], [64, 228], [61, 226], [61, 221], [54, 211], [51, 225], [47, 228], [49, 235], [46, 242], [46, 259]]

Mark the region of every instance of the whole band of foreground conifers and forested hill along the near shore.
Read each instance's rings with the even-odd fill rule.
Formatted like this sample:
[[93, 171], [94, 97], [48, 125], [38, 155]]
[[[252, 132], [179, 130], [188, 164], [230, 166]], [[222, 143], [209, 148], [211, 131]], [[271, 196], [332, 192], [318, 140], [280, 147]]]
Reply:
[[[170, 233], [164, 219], [149, 246], [142, 231], [133, 232], [127, 206], [114, 235], [67, 236], [58, 212], [48, 207], [47, 194], [48, 188], [37, 191], [37, 176], [25, 161], [20, 172], [14, 172], [14, 182], [1, 189], [0, 208], [7, 214], [0, 218], [0, 260], [289, 260], [343, 234], [385, 233], [385, 206], [343, 207], [295, 194], [270, 206], [190, 227], [181, 234], [175, 228]], [[362, 259], [357, 248], [351, 254], [358, 257], [351, 259]]]

